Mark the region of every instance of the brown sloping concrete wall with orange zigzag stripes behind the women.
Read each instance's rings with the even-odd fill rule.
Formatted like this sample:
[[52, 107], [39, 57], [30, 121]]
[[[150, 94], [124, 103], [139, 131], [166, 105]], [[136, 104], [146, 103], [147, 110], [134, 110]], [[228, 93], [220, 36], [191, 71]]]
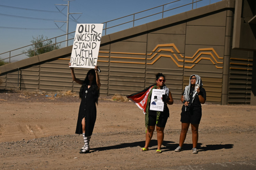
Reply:
[[[235, 1], [224, 0], [103, 36], [97, 63], [102, 71], [101, 95], [138, 92], [156, 83], [155, 74], [162, 72], [174, 99], [180, 99], [189, 76], [198, 74], [207, 101], [250, 103], [251, 65], [244, 62], [252, 63], [253, 57], [248, 51], [232, 49], [234, 10]], [[72, 82], [68, 68], [71, 48], [64, 48], [70, 51], [61, 56], [49, 52], [49, 59], [19, 70], [1, 74], [0, 68], [0, 88], [78, 92], [80, 85]], [[76, 77], [84, 79], [87, 70], [76, 68]], [[236, 78], [239, 82], [234, 82]]]

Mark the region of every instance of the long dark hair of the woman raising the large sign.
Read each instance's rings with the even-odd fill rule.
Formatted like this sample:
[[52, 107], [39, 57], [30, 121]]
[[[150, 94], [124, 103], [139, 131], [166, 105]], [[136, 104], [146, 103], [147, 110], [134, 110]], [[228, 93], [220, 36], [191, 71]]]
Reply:
[[88, 78], [88, 76], [92, 74], [93, 75], [93, 80], [92, 80], [92, 84], [91, 84], [91, 87], [90, 87], [90, 90], [92, 91], [92, 94], [94, 96], [94, 99], [95, 99], [95, 103], [98, 104], [98, 99], [99, 99], [99, 96], [100, 96], [100, 90], [98, 90], [98, 86], [97, 86], [97, 82], [96, 82], [96, 73], [95, 73], [95, 70], [94, 69], [91, 69], [87, 72], [86, 74], [86, 77], [84, 79], [84, 82], [80, 88], [80, 92], [79, 92], [79, 98], [82, 99], [83, 97], [83, 91], [84, 91], [84, 87], [86, 85], [89, 85], [90, 83], [90, 80]]

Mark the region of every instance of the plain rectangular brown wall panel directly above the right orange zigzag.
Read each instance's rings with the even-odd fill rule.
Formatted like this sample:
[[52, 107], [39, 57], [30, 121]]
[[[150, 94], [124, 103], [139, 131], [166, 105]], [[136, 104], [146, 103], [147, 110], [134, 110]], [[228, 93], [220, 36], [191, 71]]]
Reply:
[[225, 45], [225, 26], [187, 26], [186, 44]]

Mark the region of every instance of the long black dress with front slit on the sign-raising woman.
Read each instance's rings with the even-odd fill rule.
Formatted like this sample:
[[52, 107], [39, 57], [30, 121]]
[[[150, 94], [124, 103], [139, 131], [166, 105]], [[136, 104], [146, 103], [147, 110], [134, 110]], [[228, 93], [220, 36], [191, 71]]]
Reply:
[[97, 112], [95, 101], [95, 97], [92, 94], [92, 88], [88, 89], [88, 86], [84, 86], [83, 97], [78, 112], [76, 134], [83, 133], [82, 120], [85, 117], [85, 136], [92, 135]]

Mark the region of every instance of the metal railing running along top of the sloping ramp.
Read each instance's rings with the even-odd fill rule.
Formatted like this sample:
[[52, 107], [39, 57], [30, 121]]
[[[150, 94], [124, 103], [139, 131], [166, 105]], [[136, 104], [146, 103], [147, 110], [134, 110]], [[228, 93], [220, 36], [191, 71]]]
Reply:
[[[131, 15], [127, 15], [124, 17], [120, 17], [120, 18], [116, 18], [107, 22], [102, 23], [103, 24], [103, 33], [102, 35], [107, 35], [110, 33], [114, 33], [114, 32], [118, 32], [124, 29], [128, 29], [130, 27], [134, 27], [134, 26], [139, 26], [154, 20], [158, 20], [161, 18], [166, 18], [178, 13], [182, 13], [185, 11], [189, 11], [189, 10], [193, 10], [196, 9], [198, 7], [202, 7], [202, 6], [206, 6], [212, 3], [216, 3], [219, 2], [221, 0], [174, 0], [170, 3], [164, 4], [164, 5], [160, 5], [154, 8], [150, 8], [148, 10], [144, 10], [144, 11], [140, 11]], [[72, 35], [74, 36], [74, 32], [68, 33], [68, 35]], [[34, 54], [37, 54], [37, 51], [42, 49], [42, 48], [46, 48], [48, 46], [54, 46], [53, 49], [56, 49], [56, 46], [60, 46], [60, 44], [62, 42], [66, 42], [66, 41], [70, 41], [73, 40], [74, 38], [68, 39], [68, 40], [60, 40], [57, 41], [57, 39], [64, 39], [63, 37], [65, 37], [67, 34], [63, 34], [57, 37], [53, 37], [51, 39], [47, 39], [44, 41], [40, 41], [40, 42], [36, 42], [34, 44], [30, 44], [21, 48], [17, 48], [11, 51], [7, 51], [4, 53], [0, 54], [0, 62], [4, 61], [6, 63], [11, 63], [11, 58], [13, 57], [17, 57], [17, 56], [23, 56], [26, 55], [29, 52], [34, 51]], [[54, 40], [54, 41], [52, 41]], [[39, 43], [44, 43], [45, 41], [51, 41], [53, 42], [50, 45], [44, 46], [44, 47], [40, 47], [40, 48], [36, 48], [37, 44]], [[29, 48], [30, 47], [30, 48]], [[33, 50], [27, 50], [27, 51], [21, 51], [22, 49], [25, 48], [33, 48]], [[2, 56], [4, 56], [3, 59]], [[8, 61], [7, 61], [8, 60]]]

